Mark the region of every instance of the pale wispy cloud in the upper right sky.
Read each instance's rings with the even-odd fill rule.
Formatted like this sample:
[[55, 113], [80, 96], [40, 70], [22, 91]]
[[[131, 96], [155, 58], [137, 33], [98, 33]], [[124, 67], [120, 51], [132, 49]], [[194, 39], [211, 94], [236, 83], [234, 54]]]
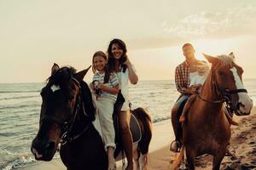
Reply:
[[162, 28], [169, 35], [177, 37], [230, 37], [256, 33], [256, 8], [230, 8], [223, 11], [191, 14], [178, 20], [176, 24], [168, 21]]

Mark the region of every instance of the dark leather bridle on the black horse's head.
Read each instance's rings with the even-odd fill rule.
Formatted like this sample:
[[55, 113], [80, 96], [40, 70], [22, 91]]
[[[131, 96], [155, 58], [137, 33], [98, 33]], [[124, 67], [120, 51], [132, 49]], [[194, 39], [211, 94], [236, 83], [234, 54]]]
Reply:
[[81, 94], [80, 83], [74, 77], [72, 77], [71, 79], [79, 86], [79, 94], [77, 96], [76, 105], [75, 105], [75, 108], [73, 111], [73, 116], [71, 117], [71, 119], [69, 121], [68, 120], [61, 121], [58, 118], [56, 118], [55, 116], [44, 116], [43, 118], [40, 119], [40, 122], [43, 122], [46, 120], [55, 122], [56, 124], [58, 124], [61, 127], [61, 129], [64, 130], [64, 133], [61, 134], [61, 141], [60, 141], [60, 144], [62, 144], [62, 145], [70, 143], [75, 139], [79, 139], [79, 137], [81, 137], [88, 130], [88, 128], [90, 127], [90, 124], [91, 124], [91, 123], [88, 123], [88, 125], [83, 129], [83, 131], [81, 133], [79, 133], [75, 136], [70, 135], [70, 133], [73, 130], [73, 125], [74, 125], [74, 122], [76, 121], [79, 109], [81, 107], [83, 109], [84, 116], [88, 116], [84, 109], [83, 99], [81, 96], [82, 94]]

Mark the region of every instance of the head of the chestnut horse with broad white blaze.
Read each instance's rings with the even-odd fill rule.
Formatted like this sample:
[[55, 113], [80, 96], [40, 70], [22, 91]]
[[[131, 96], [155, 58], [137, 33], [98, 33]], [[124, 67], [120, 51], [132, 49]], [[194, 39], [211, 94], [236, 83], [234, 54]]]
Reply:
[[241, 66], [235, 63], [235, 55], [218, 55], [212, 57], [204, 54], [212, 64], [209, 77], [212, 78], [214, 90], [237, 116], [249, 115], [253, 100], [249, 98], [243, 86]]

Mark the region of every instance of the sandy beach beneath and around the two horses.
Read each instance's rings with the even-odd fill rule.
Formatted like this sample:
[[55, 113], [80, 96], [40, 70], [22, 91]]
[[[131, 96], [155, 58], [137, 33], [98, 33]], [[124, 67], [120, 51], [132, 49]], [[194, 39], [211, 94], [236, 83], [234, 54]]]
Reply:
[[[221, 169], [256, 169], [256, 107], [250, 116], [235, 116], [238, 127], [232, 126], [230, 150], [236, 156], [226, 156]], [[154, 123], [154, 136], [149, 149], [148, 169], [166, 170], [174, 154], [169, 150], [173, 139], [170, 120]], [[40, 162], [30, 167], [21, 167], [26, 170], [64, 170], [60, 159], [50, 162]], [[118, 169], [121, 169], [119, 167]], [[196, 159], [196, 169], [212, 169], [212, 156], [200, 156]]]

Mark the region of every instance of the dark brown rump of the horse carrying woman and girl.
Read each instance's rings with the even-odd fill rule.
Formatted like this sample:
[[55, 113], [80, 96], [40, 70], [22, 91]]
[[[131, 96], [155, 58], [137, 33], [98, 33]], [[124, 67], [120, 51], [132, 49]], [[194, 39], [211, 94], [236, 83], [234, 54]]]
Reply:
[[138, 150], [144, 155], [148, 153], [148, 146], [152, 138], [152, 122], [148, 111], [139, 107], [132, 111], [133, 115], [137, 117], [142, 130], [142, 139], [138, 143]]

